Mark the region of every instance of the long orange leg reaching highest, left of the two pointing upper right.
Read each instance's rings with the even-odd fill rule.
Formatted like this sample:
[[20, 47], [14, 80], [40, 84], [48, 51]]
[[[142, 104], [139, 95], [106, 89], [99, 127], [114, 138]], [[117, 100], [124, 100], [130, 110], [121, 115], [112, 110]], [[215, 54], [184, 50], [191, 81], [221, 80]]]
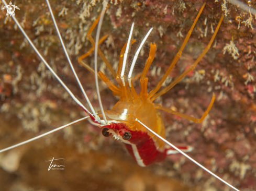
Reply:
[[174, 57], [174, 59], [173, 59], [171, 65], [169, 66], [168, 70], [165, 72], [165, 74], [163, 75], [162, 79], [158, 82], [158, 85], [155, 86], [155, 88], [149, 92], [149, 98], [151, 98], [151, 97], [161, 88], [163, 82], [164, 82], [165, 79], [168, 77], [168, 75], [169, 75], [170, 72], [172, 71], [173, 67], [175, 66], [176, 62], [177, 62], [177, 61], [179, 60], [179, 58], [181, 57], [182, 51], [183, 51], [183, 49], [184, 49], [184, 47], [185, 47], [185, 45], [186, 45], [188, 39], [190, 38], [190, 35], [191, 35], [191, 33], [192, 33], [192, 31], [193, 31], [195, 25], [196, 25], [196, 22], [197, 22], [199, 16], [201, 15], [201, 13], [202, 13], [202, 11], [203, 11], [203, 9], [204, 9], [204, 6], [205, 6], [205, 3], [204, 3], [204, 5], [202, 6], [202, 8], [200, 9], [199, 13], [197, 14], [196, 19], [195, 19], [195, 21], [194, 21], [192, 27], [190, 28], [190, 31], [188, 31], [188, 33], [187, 33], [187, 35], [186, 35], [186, 38], [185, 38], [185, 40], [184, 40], [184, 42], [183, 42], [183, 44], [182, 44], [182, 46], [181, 46], [179, 52], [178, 52], [178, 53], [176, 54], [176, 56]]

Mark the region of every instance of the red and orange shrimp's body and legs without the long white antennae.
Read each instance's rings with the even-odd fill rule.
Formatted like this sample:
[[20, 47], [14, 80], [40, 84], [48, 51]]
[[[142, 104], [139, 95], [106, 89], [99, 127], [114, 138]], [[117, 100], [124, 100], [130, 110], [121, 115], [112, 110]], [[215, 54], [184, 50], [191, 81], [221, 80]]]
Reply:
[[[169, 86], [163, 88], [161, 91], [158, 92], [163, 82], [165, 81], [165, 79], [168, 77], [171, 70], [173, 69], [174, 65], [179, 60], [182, 54], [182, 51], [188, 39], [190, 38], [192, 30], [195, 27], [195, 24], [204, 9], [204, 6], [205, 6], [205, 3], [202, 6], [201, 10], [199, 10], [199, 13], [197, 14], [197, 17], [190, 31], [187, 33], [186, 38], [179, 52], [176, 54], [168, 70], [166, 70], [164, 76], [159, 81], [158, 85], [149, 93], [147, 91], [148, 78], [146, 77], [146, 75], [154, 59], [155, 50], [157, 47], [156, 44], [150, 43], [149, 57], [147, 59], [147, 62], [144, 66], [144, 69], [140, 77], [141, 91], [139, 92], [139, 94], [136, 93], [135, 88], [133, 87], [133, 84], [132, 84], [132, 80], [131, 78], [129, 78], [130, 76], [128, 77], [129, 83], [127, 83], [123, 79], [124, 73], [122, 73], [125, 67], [124, 65], [126, 64], [127, 50], [129, 49], [129, 47], [127, 48], [127, 46], [133, 44], [136, 41], [131, 39], [132, 29], [130, 32], [130, 37], [128, 42], [126, 42], [123, 49], [121, 50], [117, 73], [115, 73], [113, 67], [109, 64], [109, 62], [107, 61], [102, 51], [98, 48], [99, 55], [103, 59], [104, 63], [107, 65], [112, 75], [116, 78], [116, 81], [119, 87], [115, 86], [101, 71], [98, 72], [98, 77], [100, 77], [106, 83], [109, 89], [113, 91], [114, 95], [120, 98], [120, 100], [115, 104], [114, 108], [111, 111], [104, 111], [109, 123], [107, 125], [101, 125], [101, 127], [104, 127], [103, 135], [109, 136], [109, 134], [111, 134], [115, 139], [119, 139], [123, 141], [130, 155], [137, 161], [137, 163], [140, 166], [146, 166], [155, 162], [160, 162], [166, 157], [166, 155], [177, 153], [177, 151], [174, 150], [173, 148], [166, 148], [162, 140], [160, 140], [158, 137], [150, 133], [146, 128], [144, 128], [140, 123], [138, 123], [136, 119], [140, 120], [140, 122], [148, 126], [155, 133], [165, 138], [165, 128], [164, 128], [163, 119], [160, 113], [157, 111], [157, 109], [164, 110], [166, 112], [186, 118], [187, 120], [191, 120], [196, 123], [200, 123], [204, 120], [209, 110], [212, 108], [212, 105], [215, 100], [214, 94], [213, 94], [212, 101], [210, 102], [207, 110], [204, 112], [203, 116], [200, 119], [185, 115], [180, 112], [173, 111], [169, 108], [165, 108], [160, 104], [153, 103], [155, 99], [157, 99], [159, 96], [161, 96], [162, 94], [170, 90], [173, 86], [176, 85], [177, 82], [179, 82], [191, 70], [193, 70], [196, 64], [202, 59], [202, 57], [206, 54], [206, 52], [209, 50], [210, 46], [212, 45], [213, 40], [224, 18], [223, 16], [221, 16], [219, 23], [217, 25], [217, 28], [213, 34], [213, 37], [208, 43], [203, 53], [196, 59], [196, 61], [187, 70], [185, 70], [179, 77], [177, 77], [172, 83], [170, 83]], [[94, 21], [91, 29], [87, 34], [88, 39], [93, 44], [93, 47], [91, 48], [90, 51], [88, 51], [86, 54], [84, 54], [79, 58], [79, 63], [82, 64], [88, 70], [90, 70], [92, 73], [94, 73], [94, 69], [91, 68], [88, 64], [86, 64], [82, 59], [90, 55], [90, 53], [94, 49], [95, 41], [92, 38], [91, 33], [95, 28], [95, 26], [97, 25], [98, 20], [99, 20], [99, 17]], [[133, 28], [133, 24], [132, 24], [132, 28]], [[149, 35], [151, 30], [148, 32], [147, 35]], [[102, 43], [106, 38], [107, 38], [106, 35], [102, 37], [99, 40], [99, 44]], [[138, 54], [138, 51], [135, 57], [137, 56], [137, 54]], [[98, 113], [99, 115], [101, 114], [100, 112]], [[186, 152], [192, 150], [192, 147], [189, 147], [189, 146], [178, 147], [178, 148]]]

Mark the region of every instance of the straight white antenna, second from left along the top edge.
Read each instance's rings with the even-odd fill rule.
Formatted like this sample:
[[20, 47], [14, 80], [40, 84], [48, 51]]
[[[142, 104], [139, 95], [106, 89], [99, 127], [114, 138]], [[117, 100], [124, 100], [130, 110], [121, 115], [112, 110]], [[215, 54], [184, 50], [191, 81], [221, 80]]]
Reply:
[[73, 64], [71, 63], [71, 60], [70, 60], [68, 51], [66, 51], [66, 47], [65, 47], [64, 42], [63, 42], [63, 40], [62, 40], [62, 37], [61, 37], [60, 31], [59, 31], [59, 28], [58, 28], [58, 26], [57, 26], [57, 23], [56, 23], [56, 21], [55, 21], [54, 15], [53, 15], [53, 13], [52, 13], [52, 9], [51, 9], [51, 5], [50, 5], [50, 3], [49, 3], [49, 0], [46, 0], [46, 2], [47, 2], [47, 5], [48, 5], [48, 8], [49, 8], [49, 10], [50, 10], [50, 13], [51, 13], [51, 17], [52, 17], [54, 26], [55, 26], [55, 28], [56, 28], [56, 30], [57, 30], [57, 33], [58, 33], [58, 36], [59, 36], [61, 45], [62, 45], [63, 50], [64, 50], [64, 52], [65, 52], [66, 58], [67, 58], [68, 61], [69, 61], [69, 65], [70, 65], [70, 67], [71, 67], [71, 69], [72, 69], [72, 71], [73, 71], [73, 74], [74, 74], [74, 76], [75, 76], [75, 79], [76, 79], [77, 83], [79, 84], [80, 89], [82, 90], [82, 92], [83, 92], [83, 94], [84, 94], [84, 97], [85, 97], [85, 99], [86, 99], [88, 105], [90, 106], [90, 108], [91, 108], [91, 110], [92, 110], [92, 112], [93, 112], [93, 115], [94, 115], [94, 117], [95, 117], [95, 120], [96, 120], [97, 122], [101, 122], [101, 119], [99, 118], [99, 116], [98, 116], [98, 115], [96, 114], [96, 112], [94, 111], [94, 108], [93, 108], [93, 106], [92, 106], [90, 100], [88, 99], [88, 97], [87, 97], [87, 95], [86, 95], [86, 93], [85, 93], [85, 91], [84, 91], [84, 88], [83, 88], [83, 86], [82, 86], [82, 84], [81, 84], [79, 78], [78, 78], [77, 75], [76, 75], [75, 69], [74, 69], [74, 67], [73, 67]]

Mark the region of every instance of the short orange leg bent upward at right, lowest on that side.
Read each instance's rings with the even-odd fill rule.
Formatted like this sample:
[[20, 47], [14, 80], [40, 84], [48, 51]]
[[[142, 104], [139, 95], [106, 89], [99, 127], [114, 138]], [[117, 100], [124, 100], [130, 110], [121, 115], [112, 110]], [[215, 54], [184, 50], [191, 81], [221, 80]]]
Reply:
[[171, 113], [173, 115], [177, 115], [177, 116], [180, 116], [182, 118], [186, 118], [187, 120], [190, 120], [190, 121], [193, 121], [195, 123], [201, 123], [204, 118], [206, 117], [206, 115], [209, 113], [210, 109], [212, 108], [213, 106], [213, 103], [214, 103], [214, 100], [215, 100], [215, 93], [213, 93], [213, 98], [212, 100], [210, 101], [210, 104], [207, 108], [207, 110], [204, 112], [203, 116], [201, 118], [195, 118], [195, 117], [192, 117], [192, 116], [189, 116], [189, 115], [186, 115], [186, 114], [183, 114], [183, 113], [180, 113], [180, 112], [176, 112], [176, 111], [173, 111], [169, 108], [166, 108], [158, 103], [154, 103], [154, 108], [155, 109], [159, 109], [159, 110], [163, 110], [163, 111], [166, 111], [168, 113]]

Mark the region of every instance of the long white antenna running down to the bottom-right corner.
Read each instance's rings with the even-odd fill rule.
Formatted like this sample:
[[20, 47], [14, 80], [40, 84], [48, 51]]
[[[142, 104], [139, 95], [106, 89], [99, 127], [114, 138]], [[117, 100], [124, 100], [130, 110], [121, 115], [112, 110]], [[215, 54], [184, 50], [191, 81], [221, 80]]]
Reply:
[[228, 185], [229, 187], [239, 191], [239, 189], [233, 187], [232, 185], [230, 185], [229, 183], [227, 183], [226, 181], [224, 181], [222, 178], [220, 178], [219, 176], [217, 176], [216, 174], [214, 174], [212, 171], [209, 171], [208, 169], [206, 169], [203, 165], [199, 164], [198, 162], [196, 162], [194, 159], [192, 159], [190, 156], [188, 156], [187, 154], [185, 154], [184, 152], [182, 152], [180, 149], [178, 149], [177, 147], [175, 147], [174, 145], [172, 145], [169, 141], [165, 140], [163, 137], [161, 137], [160, 135], [158, 135], [157, 133], [155, 133], [153, 130], [151, 130], [149, 127], [147, 127], [146, 125], [144, 125], [142, 122], [140, 122], [137, 118], [135, 121], [138, 121], [141, 125], [143, 125], [146, 129], [148, 129], [152, 134], [154, 134], [155, 136], [157, 136], [158, 138], [160, 138], [161, 140], [163, 140], [166, 144], [170, 145], [171, 147], [173, 147], [174, 149], [176, 149], [177, 151], [179, 151], [181, 154], [183, 154], [186, 158], [190, 159], [192, 162], [194, 162], [196, 165], [200, 166], [202, 169], [204, 169], [205, 171], [207, 171], [208, 173], [212, 174], [214, 177], [218, 178], [218, 180], [220, 180], [221, 182], [225, 183], [226, 185]]

